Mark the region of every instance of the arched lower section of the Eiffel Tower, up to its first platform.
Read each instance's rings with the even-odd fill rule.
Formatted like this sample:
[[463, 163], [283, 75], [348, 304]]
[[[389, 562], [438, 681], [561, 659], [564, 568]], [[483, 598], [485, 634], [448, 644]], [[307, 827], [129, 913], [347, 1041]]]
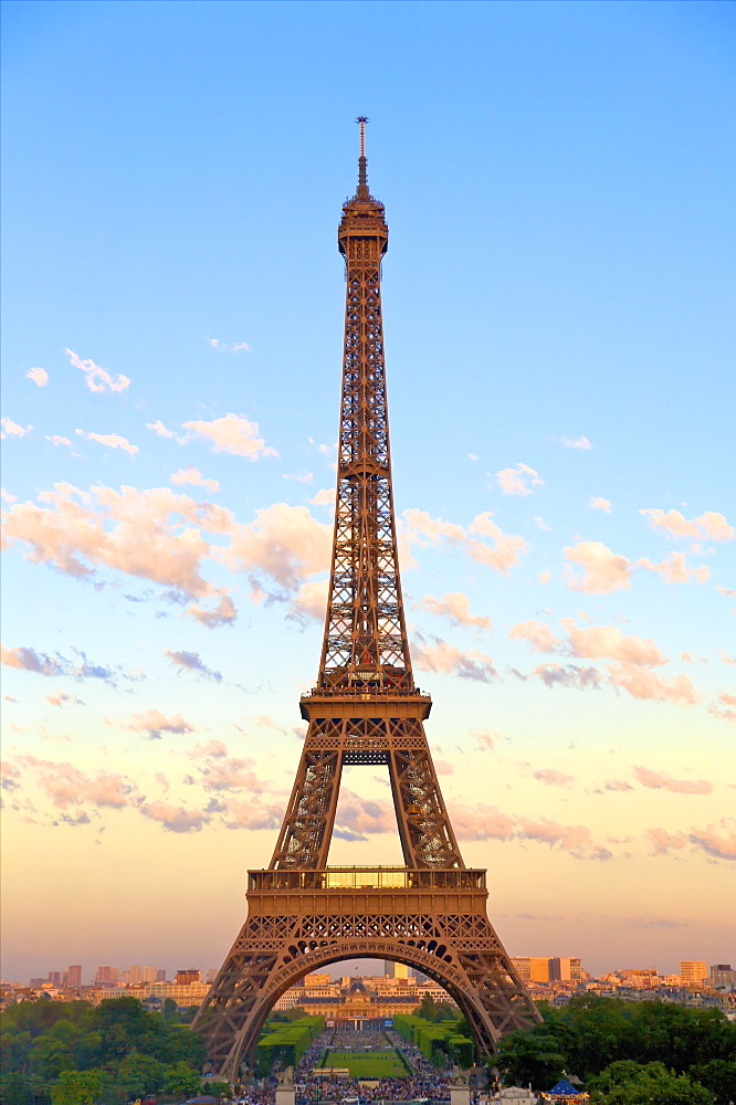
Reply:
[[542, 1018], [486, 915], [485, 871], [250, 871], [248, 917], [192, 1028], [219, 1078], [255, 1061], [263, 1024], [301, 978], [341, 959], [408, 964], [444, 987], [480, 1056]]

